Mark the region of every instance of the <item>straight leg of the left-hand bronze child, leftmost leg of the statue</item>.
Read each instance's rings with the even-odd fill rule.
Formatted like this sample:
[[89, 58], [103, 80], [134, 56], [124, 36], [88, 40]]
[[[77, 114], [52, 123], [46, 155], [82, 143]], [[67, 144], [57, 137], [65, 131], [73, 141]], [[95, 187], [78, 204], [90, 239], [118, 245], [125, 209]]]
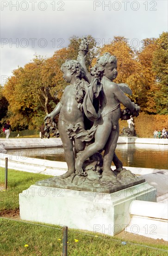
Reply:
[[60, 177], [67, 178], [72, 173], [75, 173], [75, 156], [73, 151], [73, 142], [69, 139], [66, 133], [66, 124], [63, 121], [58, 123], [58, 129], [59, 129], [59, 134], [60, 134], [63, 149], [64, 149], [65, 161], [67, 162], [67, 165], [68, 165], [68, 172], [61, 175]]

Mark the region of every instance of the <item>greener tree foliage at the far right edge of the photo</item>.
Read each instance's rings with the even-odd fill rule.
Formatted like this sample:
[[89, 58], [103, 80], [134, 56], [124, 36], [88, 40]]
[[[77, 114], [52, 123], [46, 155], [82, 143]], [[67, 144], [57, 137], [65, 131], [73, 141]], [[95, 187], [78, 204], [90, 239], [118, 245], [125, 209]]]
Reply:
[[152, 67], [156, 73], [156, 110], [161, 115], [168, 114], [168, 32], [157, 39]]

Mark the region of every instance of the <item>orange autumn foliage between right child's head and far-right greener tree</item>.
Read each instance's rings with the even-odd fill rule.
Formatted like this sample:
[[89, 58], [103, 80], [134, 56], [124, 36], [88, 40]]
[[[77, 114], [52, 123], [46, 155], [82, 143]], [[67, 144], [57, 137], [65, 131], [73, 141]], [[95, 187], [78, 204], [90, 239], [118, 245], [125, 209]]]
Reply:
[[[155, 38], [143, 40], [143, 47], [136, 51], [132, 49], [124, 37], [114, 37], [109, 45], [99, 48], [99, 54], [109, 52], [118, 60], [117, 83], [127, 83], [132, 89], [131, 100], [141, 106], [141, 110], [149, 114], [156, 114], [156, 72], [153, 70], [153, 58], [157, 48]], [[93, 60], [92, 65], [96, 63]]]

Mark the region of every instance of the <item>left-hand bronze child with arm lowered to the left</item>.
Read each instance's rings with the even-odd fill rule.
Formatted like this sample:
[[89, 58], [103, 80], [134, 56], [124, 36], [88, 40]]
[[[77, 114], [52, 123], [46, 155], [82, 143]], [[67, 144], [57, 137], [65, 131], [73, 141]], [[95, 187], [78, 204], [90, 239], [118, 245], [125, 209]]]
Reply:
[[[80, 104], [83, 101], [87, 82], [82, 79], [84, 72], [78, 61], [67, 60], [62, 64], [61, 70], [63, 72], [63, 78], [69, 85], [65, 88], [61, 101], [50, 114], [45, 116], [44, 120], [47, 118], [53, 120], [56, 115], [60, 114], [58, 119], [58, 129], [65, 152], [65, 160], [68, 165], [68, 172], [60, 177], [67, 178], [75, 173], [73, 141], [68, 137], [67, 129], [69, 125], [75, 124], [79, 124], [84, 128], [83, 114], [80, 109]], [[85, 142], [82, 142], [80, 139], [74, 139], [74, 142], [76, 152], [84, 149]]]

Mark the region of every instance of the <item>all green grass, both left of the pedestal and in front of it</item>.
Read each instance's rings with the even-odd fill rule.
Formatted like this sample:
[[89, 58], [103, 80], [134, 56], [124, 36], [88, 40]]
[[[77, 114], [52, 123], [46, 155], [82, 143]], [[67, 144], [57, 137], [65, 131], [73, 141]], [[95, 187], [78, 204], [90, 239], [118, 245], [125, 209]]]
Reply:
[[[7, 191], [0, 192], [0, 209], [19, 208], [19, 193], [48, 175], [31, 174], [8, 170]], [[4, 168], [0, 168], [0, 183], [4, 182]], [[76, 242], [75, 242], [75, 239]], [[68, 229], [69, 256], [167, 256], [162, 244], [131, 243], [122, 244], [115, 237], [94, 234], [93, 232]], [[138, 242], [140, 243], [140, 242]], [[28, 245], [28, 246], [25, 246]], [[157, 249], [146, 246], [157, 247]], [[1, 256], [61, 256], [62, 227], [34, 222], [22, 222], [19, 219], [0, 218], [0, 255]]]

